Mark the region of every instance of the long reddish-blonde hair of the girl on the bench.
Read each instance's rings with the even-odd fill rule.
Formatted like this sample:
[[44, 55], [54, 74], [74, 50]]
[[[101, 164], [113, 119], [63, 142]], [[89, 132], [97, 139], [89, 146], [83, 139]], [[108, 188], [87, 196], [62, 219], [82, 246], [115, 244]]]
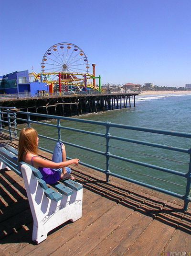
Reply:
[[23, 128], [19, 137], [18, 162], [22, 161], [24, 152], [38, 155], [38, 132], [34, 128]]

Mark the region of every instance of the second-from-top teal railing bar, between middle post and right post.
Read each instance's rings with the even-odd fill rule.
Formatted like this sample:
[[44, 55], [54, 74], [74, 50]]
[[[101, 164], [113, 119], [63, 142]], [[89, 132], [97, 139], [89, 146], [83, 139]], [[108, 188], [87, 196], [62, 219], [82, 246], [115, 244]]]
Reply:
[[132, 139], [121, 138], [121, 137], [111, 136], [111, 135], [109, 136], [109, 138], [110, 139], [114, 139], [114, 140], [126, 141], [126, 142], [135, 143], [135, 144], [140, 144], [140, 145], [160, 148], [160, 149], [166, 149], [166, 150], [172, 150], [172, 151], [177, 151], [177, 152], [189, 153], [189, 150], [187, 150], [187, 149], [181, 149], [181, 148], [176, 148], [176, 147], [171, 147], [171, 146], [165, 146], [165, 145], [151, 143], [151, 142], [145, 142], [145, 141], [141, 141], [141, 140], [132, 140]]

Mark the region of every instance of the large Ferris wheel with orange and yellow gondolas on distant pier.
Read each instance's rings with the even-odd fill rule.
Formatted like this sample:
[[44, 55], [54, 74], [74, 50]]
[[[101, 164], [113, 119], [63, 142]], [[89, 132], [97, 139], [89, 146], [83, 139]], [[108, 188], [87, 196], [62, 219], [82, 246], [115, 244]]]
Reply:
[[[71, 43], [59, 43], [45, 52], [41, 67], [42, 73], [62, 72], [61, 79], [73, 80], [76, 78], [76, 73], [88, 73], [89, 64], [80, 47]], [[55, 78], [52, 77], [51, 80]]]

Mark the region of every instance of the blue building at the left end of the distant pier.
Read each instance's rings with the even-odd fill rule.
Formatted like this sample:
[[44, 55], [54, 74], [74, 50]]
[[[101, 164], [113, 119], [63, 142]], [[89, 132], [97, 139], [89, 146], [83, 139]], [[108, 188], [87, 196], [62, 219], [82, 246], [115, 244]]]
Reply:
[[31, 93], [38, 91], [48, 91], [45, 82], [30, 82], [29, 71], [15, 71], [7, 75], [0, 76], [0, 94]]

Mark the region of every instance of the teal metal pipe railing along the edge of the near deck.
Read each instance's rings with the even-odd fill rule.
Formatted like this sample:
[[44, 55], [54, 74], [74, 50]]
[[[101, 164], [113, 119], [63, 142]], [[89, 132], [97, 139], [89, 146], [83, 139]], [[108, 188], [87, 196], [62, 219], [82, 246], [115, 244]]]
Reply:
[[[41, 120], [41, 121], [38, 121], [37, 119]], [[57, 122], [55, 124], [47, 123], [47, 122], [42, 121], [42, 119], [54, 119], [54, 120], [57, 120]], [[85, 130], [85, 129], [74, 128], [75, 126], [74, 127], [72, 127], [72, 126], [68, 127], [68, 125], [63, 126], [63, 124], [62, 124], [63, 121], [67, 121], [70, 123], [71, 122], [72, 123], [73, 122], [74, 123], [83, 123], [84, 126], [91, 125], [93, 128], [96, 128], [97, 126], [101, 126], [103, 128], [102, 130], [104, 132], [100, 133], [100, 132], [92, 131], [93, 128], [92, 128], [92, 130]], [[41, 137], [44, 141], [55, 141], [56, 142], [59, 140], [59, 141], [64, 142], [64, 144], [66, 144], [68, 146], [74, 147], [75, 149], [92, 152], [93, 155], [98, 155], [101, 158], [104, 158], [105, 162], [102, 162], [102, 163], [105, 163], [106, 168], [100, 168], [100, 167], [97, 167], [96, 165], [92, 165], [85, 161], [80, 162], [80, 164], [82, 164], [86, 167], [95, 169], [99, 172], [105, 173], [106, 174], [106, 182], [109, 182], [109, 176], [111, 175], [111, 176], [115, 176], [115, 177], [123, 179], [123, 180], [127, 180], [134, 184], [145, 186], [145, 187], [151, 188], [153, 190], [163, 192], [170, 196], [180, 198], [180, 199], [184, 200], [184, 210], [187, 210], [188, 203], [191, 202], [191, 197], [190, 197], [190, 192], [191, 192], [191, 149], [190, 148], [184, 149], [184, 148], [180, 148], [180, 147], [162, 145], [162, 144], [152, 143], [152, 142], [148, 142], [148, 141], [141, 141], [141, 140], [134, 140], [131, 138], [119, 137], [119, 136], [113, 135], [112, 131], [113, 131], [113, 128], [115, 128], [115, 129], [119, 128], [119, 129], [123, 129], [123, 130], [140, 131], [140, 132], [146, 132], [146, 133], [151, 133], [151, 134], [153, 133], [156, 135], [157, 134], [170, 135], [172, 137], [186, 138], [188, 140], [191, 139], [191, 133], [127, 126], [127, 125], [114, 124], [114, 123], [110, 123], [110, 122], [99, 122], [99, 121], [93, 121], [93, 120], [84, 120], [84, 119], [80, 119], [80, 118], [52, 116], [52, 115], [37, 114], [37, 113], [31, 113], [31, 112], [22, 112], [22, 111], [16, 112], [16, 111], [14, 111], [14, 109], [7, 109], [7, 108], [0, 107], [0, 133], [2, 133], [2, 132], [9, 133], [10, 140], [18, 139], [17, 132], [19, 132], [21, 130], [20, 128], [18, 128], [19, 127], [18, 123], [27, 123], [28, 127], [31, 127], [32, 124], [35, 124], [35, 126], [37, 126], [37, 127], [44, 127], [44, 126], [49, 127], [54, 130], [54, 133], [56, 131], [56, 136], [54, 136], [54, 138], [53, 138], [53, 137], [46, 136], [42, 133], [39, 133], [39, 137]], [[86, 134], [91, 137], [96, 136], [97, 140], [98, 140], [98, 138], [101, 138], [102, 140], [105, 141], [105, 144], [101, 144], [101, 148], [102, 149], [104, 148], [104, 150], [97, 150], [93, 147], [87, 147], [87, 145], [86, 145], [87, 142], [84, 143], [85, 145], [80, 145], [79, 143], [77, 144], [77, 143], [74, 143], [73, 141], [69, 142], [66, 140], [62, 140], [62, 132], [61, 131], [63, 131], [63, 130], [67, 130], [68, 132], [69, 131], [76, 132], [77, 134], [79, 134], [78, 138], [80, 138], [80, 134]], [[149, 146], [152, 148], [158, 148], [158, 149], [163, 149], [163, 150], [167, 150], [167, 151], [171, 151], [171, 152], [187, 154], [189, 156], [188, 169], [185, 170], [185, 172], [180, 172], [180, 171], [176, 171], [176, 170], [173, 170], [170, 168], [158, 166], [155, 164], [145, 163], [145, 162], [134, 160], [132, 158], [127, 158], [127, 157], [120, 155], [120, 150], [122, 150], [122, 149], [119, 149], [117, 153], [112, 154], [110, 152], [110, 149], [114, 148], [114, 147], [110, 145], [110, 141], [117, 141], [117, 143], [130, 142], [130, 143], [133, 143], [136, 145], [143, 145], [143, 146], [145, 146], [145, 148], [146, 148], [146, 146]], [[47, 143], [46, 145], [48, 145], [48, 144], [49, 143]], [[97, 144], [99, 144], [99, 143], [97, 143]], [[39, 147], [39, 148], [44, 151], [53, 153], [53, 151], [51, 151], [47, 147], [45, 147], [45, 148]], [[126, 149], [126, 150], [130, 151], [128, 149]], [[146, 153], [142, 153], [142, 154], [146, 154]], [[148, 156], [149, 156], [149, 154], [148, 154]], [[71, 159], [71, 158], [68, 157], [67, 159]], [[170, 175], [178, 175], [179, 177], [182, 177], [181, 179], [184, 179], [186, 181], [185, 193], [182, 195], [180, 193], [175, 193], [173, 191], [164, 189], [159, 186], [147, 184], [145, 182], [141, 182], [139, 180], [132, 179], [127, 176], [123, 176], [123, 175], [119, 175], [114, 172], [111, 172], [110, 167], [113, 166], [112, 164], [110, 164], [111, 159], [116, 160], [116, 161], [122, 161], [124, 164], [132, 163], [132, 164], [135, 164], [136, 166], [143, 166], [143, 167], [146, 167], [149, 169], [158, 170], [158, 171], [161, 171], [164, 173], [168, 173]], [[99, 160], [95, 160], [95, 161], [100, 162]], [[176, 162], [178, 162], [178, 161], [176, 161]], [[133, 171], [133, 172], [135, 172], [135, 171]], [[162, 180], [162, 179], [160, 179], [160, 180]]]

